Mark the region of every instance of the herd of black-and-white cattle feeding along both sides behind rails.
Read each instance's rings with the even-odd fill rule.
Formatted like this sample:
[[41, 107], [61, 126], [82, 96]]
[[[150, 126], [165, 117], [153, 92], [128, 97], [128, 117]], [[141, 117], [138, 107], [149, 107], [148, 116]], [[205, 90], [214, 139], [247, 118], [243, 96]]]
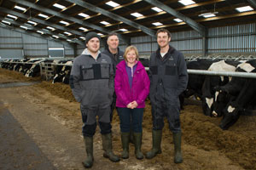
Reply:
[[[145, 60], [145, 59], [144, 59]], [[69, 83], [73, 59], [7, 59], [0, 68], [20, 71], [26, 77], [40, 76], [40, 65], [54, 65], [52, 83]], [[144, 63], [144, 62], [143, 62]], [[145, 66], [148, 61], [145, 60]], [[196, 59], [187, 61], [189, 70], [256, 72], [256, 59], [247, 61]], [[184, 98], [194, 95], [201, 99], [202, 110], [206, 116], [223, 116], [219, 125], [226, 130], [241, 115], [253, 115], [256, 108], [256, 79], [245, 77], [221, 77], [189, 74], [187, 89], [181, 94]]]

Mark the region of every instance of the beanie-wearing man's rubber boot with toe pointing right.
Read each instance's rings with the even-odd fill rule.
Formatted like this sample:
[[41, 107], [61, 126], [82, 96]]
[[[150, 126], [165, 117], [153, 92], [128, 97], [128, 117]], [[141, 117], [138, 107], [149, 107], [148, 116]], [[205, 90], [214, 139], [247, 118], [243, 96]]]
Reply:
[[103, 146], [103, 156], [107, 157], [110, 161], [117, 162], [120, 161], [119, 156], [116, 156], [112, 152], [112, 135], [111, 133], [102, 134], [102, 146]]

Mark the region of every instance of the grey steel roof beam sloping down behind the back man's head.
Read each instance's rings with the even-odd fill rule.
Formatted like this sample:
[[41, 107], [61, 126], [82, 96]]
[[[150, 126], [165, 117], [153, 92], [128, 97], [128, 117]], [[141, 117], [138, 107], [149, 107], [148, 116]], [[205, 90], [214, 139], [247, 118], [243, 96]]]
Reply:
[[[102, 32], [107, 33], [107, 34], [109, 32], [111, 32], [108, 29], [102, 28], [101, 26], [96, 26], [94, 24], [91, 24], [90, 22], [86, 22], [84, 20], [79, 20], [79, 19], [71, 17], [67, 14], [61, 14], [59, 12], [56, 12], [55, 10], [52, 10], [52, 9], [49, 9], [49, 8], [44, 8], [43, 6], [37, 5], [35, 3], [30, 3], [30, 2], [24, 1], [24, 0], [10, 0], [10, 1], [15, 2], [15, 3], [20, 3], [20, 4], [25, 5], [27, 7], [30, 7], [30, 8], [35, 8], [39, 11], [58, 16], [58, 17], [62, 18], [63, 20], [70, 20], [70, 21], [76, 22], [76, 23], [78, 23], [82, 26], [87, 26], [87, 27], [90, 27], [90, 28], [98, 30], [98, 31], [102, 31]], [[131, 39], [128, 38], [128, 37], [125, 37], [125, 36], [119, 34], [119, 38], [120, 38], [120, 40], [124, 41], [127, 44], [131, 43]]]

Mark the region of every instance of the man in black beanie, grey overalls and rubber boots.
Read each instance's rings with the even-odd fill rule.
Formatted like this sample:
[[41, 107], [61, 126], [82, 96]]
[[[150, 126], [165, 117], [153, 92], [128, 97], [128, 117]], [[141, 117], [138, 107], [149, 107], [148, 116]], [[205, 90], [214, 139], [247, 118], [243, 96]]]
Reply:
[[84, 167], [93, 165], [93, 136], [96, 133], [96, 116], [102, 133], [104, 157], [119, 161], [112, 152], [110, 105], [113, 98], [113, 63], [106, 54], [100, 54], [100, 37], [89, 32], [85, 37], [83, 54], [73, 61], [70, 86], [73, 96], [81, 104], [84, 122], [83, 136], [87, 158]]

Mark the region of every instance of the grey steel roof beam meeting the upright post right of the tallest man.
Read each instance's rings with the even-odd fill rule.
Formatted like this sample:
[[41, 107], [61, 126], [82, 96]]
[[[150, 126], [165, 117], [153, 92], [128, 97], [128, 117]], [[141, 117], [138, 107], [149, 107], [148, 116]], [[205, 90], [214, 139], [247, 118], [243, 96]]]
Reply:
[[180, 20], [183, 20], [185, 23], [187, 23], [190, 27], [192, 27], [195, 31], [198, 31], [202, 37], [207, 36], [207, 28], [205, 26], [202, 26], [201, 24], [195, 22], [195, 20], [191, 20], [189, 17], [177, 12], [175, 9], [167, 6], [164, 3], [160, 3], [157, 0], [143, 0], [147, 3], [150, 3], [158, 8], [161, 8], [165, 10], [167, 13], [172, 14], [173, 16], [177, 17]]

